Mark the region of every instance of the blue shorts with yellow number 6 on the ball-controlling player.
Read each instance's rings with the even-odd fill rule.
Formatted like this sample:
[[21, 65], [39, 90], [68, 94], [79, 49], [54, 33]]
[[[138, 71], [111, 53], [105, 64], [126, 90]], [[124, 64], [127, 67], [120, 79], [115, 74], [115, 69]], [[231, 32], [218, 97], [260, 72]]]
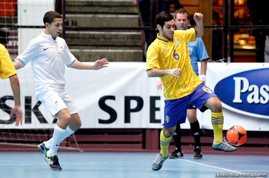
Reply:
[[204, 103], [211, 97], [218, 97], [210, 88], [201, 83], [194, 91], [179, 99], [164, 100], [164, 127], [170, 128], [177, 124], [185, 123], [187, 117], [187, 109], [190, 105], [194, 105], [201, 112], [208, 108]]

